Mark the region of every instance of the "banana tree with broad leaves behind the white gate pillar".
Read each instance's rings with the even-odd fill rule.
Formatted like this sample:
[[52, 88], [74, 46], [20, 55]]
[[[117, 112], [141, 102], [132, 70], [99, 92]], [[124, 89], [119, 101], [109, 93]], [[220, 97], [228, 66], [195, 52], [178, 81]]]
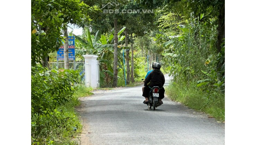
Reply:
[[[125, 30], [125, 27], [118, 32], [118, 36]], [[100, 60], [100, 85], [103, 86], [104, 82], [110, 84], [113, 76], [113, 44], [111, 40], [113, 38], [112, 31], [108, 35], [103, 35], [98, 30], [92, 35], [88, 28], [85, 28], [84, 33], [79, 37], [75, 36], [76, 40], [79, 40], [83, 44], [84, 50], [76, 49], [76, 56], [82, 57], [85, 54], [98, 55]], [[119, 40], [124, 39], [124, 36], [120, 36]], [[119, 62], [122, 62], [121, 53], [118, 54]], [[118, 66], [122, 68], [119, 63]]]

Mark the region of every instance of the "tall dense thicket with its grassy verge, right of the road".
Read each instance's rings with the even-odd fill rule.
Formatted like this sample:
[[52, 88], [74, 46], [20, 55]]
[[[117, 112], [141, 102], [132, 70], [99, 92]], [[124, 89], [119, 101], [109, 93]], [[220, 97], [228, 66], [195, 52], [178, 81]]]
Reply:
[[187, 19], [162, 44], [162, 63], [173, 76], [168, 92], [174, 100], [225, 120], [225, 39], [218, 51], [216, 19], [202, 22], [203, 17]]

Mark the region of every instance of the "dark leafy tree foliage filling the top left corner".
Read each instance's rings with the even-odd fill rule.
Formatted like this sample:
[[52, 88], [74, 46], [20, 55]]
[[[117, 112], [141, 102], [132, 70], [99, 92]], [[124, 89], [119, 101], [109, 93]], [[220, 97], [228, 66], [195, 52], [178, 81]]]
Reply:
[[62, 45], [64, 23], [82, 26], [91, 20], [88, 14], [97, 10], [80, 0], [32, 0], [31, 65], [35, 66]]

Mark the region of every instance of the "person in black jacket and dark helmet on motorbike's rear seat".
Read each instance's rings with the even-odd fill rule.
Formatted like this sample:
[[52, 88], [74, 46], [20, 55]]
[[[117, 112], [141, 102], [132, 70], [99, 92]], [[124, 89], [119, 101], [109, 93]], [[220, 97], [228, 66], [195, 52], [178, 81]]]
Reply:
[[154, 64], [152, 64], [152, 68], [153, 71], [150, 72], [147, 76], [147, 78], [145, 79], [144, 82], [144, 91], [142, 96], [145, 97], [146, 100], [143, 101], [144, 104], [148, 103], [148, 96], [149, 96], [149, 91], [152, 87], [154, 86], [158, 86], [159, 89], [159, 103], [163, 104], [162, 99], [164, 98], [164, 83], [165, 83], [165, 78], [164, 78], [164, 74], [163, 72], [160, 70], [161, 68], [161, 64], [156, 62]]

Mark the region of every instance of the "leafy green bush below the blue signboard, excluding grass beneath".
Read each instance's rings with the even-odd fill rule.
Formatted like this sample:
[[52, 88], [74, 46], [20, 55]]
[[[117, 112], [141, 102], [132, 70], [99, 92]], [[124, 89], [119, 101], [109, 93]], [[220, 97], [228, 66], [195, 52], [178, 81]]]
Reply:
[[70, 101], [79, 73], [74, 70], [48, 70], [40, 65], [31, 72], [31, 114], [52, 111]]

